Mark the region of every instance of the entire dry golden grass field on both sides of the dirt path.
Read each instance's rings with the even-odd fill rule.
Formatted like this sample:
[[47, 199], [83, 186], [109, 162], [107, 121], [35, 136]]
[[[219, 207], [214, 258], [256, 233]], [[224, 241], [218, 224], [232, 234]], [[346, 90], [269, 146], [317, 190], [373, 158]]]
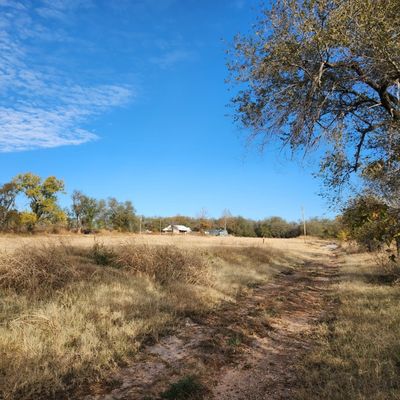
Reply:
[[[0, 399], [79, 398], [185, 318], [328, 257], [308, 240], [1, 236]], [[295, 396], [398, 399], [399, 285], [370, 255], [340, 251], [338, 264]]]

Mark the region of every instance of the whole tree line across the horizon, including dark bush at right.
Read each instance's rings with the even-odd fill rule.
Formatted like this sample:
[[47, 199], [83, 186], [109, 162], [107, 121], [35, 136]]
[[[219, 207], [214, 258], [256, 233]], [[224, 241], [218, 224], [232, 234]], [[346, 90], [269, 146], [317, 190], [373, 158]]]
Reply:
[[[32, 173], [17, 175], [0, 186], [0, 231], [161, 233], [169, 224], [179, 224], [198, 233], [226, 229], [230, 235], [244, 237], [294, 238], [304, 233], [299, 221], [290, 222], [279, 216], [253, 220], [232, 216], [228, 210], [220, 218], [209, 218], [205, 212], [197, 217], [143, 217], [137, 215], [131, 201], [122, 202], [114, 197], [96, 199], [78, 190], [72, 193], [70, 207], [63, 209], [58, 203], [58, 195], [63, 192], [64, 182], [55, 176], [42, 179]], [[17, 208], [18, 196], [27, 200], [28, 209]], [[308, 219], [307, 234], [354, 240], [369, 251], [395, 243], [400, 252], [399, 210], [376, 193], [366, 192], [350, 199], [335, 219]]]

